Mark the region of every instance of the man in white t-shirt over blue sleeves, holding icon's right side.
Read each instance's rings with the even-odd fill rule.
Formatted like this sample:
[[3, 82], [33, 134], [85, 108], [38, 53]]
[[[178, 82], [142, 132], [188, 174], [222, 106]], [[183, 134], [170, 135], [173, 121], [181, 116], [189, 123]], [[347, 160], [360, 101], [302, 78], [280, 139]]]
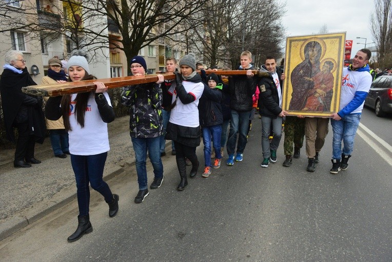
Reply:
[[332, 168], [329, 171], [331, 174], [338, 174], [340, 170], [346, 170], [348, 167], [363, 104], [371, 85], [370, 68], [367, 64], [370, 57], [369, 49], [361, 49], [355, 55], [352, 64], [343, 68], [339, 112], [330, 116], [334, 132]]

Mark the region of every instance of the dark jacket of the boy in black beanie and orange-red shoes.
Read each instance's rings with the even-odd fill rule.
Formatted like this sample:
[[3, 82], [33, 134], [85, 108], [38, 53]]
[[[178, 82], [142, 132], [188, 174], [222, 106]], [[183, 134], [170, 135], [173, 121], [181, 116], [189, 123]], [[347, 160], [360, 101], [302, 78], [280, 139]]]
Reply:
[[203, 95], [198, 105], [200, 125], [202, 127], [223, 123], [221, 102], [222, 91], [218, 88], [211, 89], [204, 85]]

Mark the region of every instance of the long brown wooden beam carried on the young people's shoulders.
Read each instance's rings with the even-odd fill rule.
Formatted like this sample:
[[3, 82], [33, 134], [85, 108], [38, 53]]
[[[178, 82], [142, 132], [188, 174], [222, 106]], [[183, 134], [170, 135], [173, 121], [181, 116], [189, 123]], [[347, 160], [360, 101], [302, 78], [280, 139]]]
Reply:
[[[200, 71], [198, 71], [200, 73]], [[254, 74], [257, 74], [258, 70], [252, 70]], [[233, 76], [239, 74], [246, 74], [246, 70], [206, 70], [207, 74], [215, 73], [224, 76]], [[173, 73], [163, 73], [164, 79], [174, 79]], [[31, 85], [22, 87], [22, 91], [34, 96], [44, 97], [57, 97], [70, 95], [71, 93], [83, 93], [95, 90], [96, 86], [93, 82], [103, 82], [108, 88], [117, 88], [128, 85], [138, 85], [145, 83], [154, 83], [158, 81], [156, 74], [146, 74], [145, 76], [131, 76], [131, 77], [120, 77], [120, 78], [104, 78], [96, 80], [86, 80], [79, 82], [67, 82], [57, 83], [49, 85]]]

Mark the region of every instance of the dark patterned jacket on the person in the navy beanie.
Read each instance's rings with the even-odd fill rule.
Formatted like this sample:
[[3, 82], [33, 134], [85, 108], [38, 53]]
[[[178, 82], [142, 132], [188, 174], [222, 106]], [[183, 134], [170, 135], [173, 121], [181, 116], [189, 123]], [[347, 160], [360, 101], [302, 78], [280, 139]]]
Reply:
[[152, 138], [162, 134], [162, 89], [159, 84], [126, 86], [121, 103], [129, 107], [131, 137]]

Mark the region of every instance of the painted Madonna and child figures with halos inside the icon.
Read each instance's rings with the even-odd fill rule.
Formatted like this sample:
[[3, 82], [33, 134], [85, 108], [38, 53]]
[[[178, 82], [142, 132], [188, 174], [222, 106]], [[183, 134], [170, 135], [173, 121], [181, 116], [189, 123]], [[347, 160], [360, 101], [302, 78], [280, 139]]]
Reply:
[[[313, 40], [313, 41], [311, 41]], [[312, 38], [301, 48], [301, 59], [290, 74], [292, 93], [289, 110], [330, 111], [337, 68], [333, 58], [323, 59], [326, 46], [322, 39]]]

